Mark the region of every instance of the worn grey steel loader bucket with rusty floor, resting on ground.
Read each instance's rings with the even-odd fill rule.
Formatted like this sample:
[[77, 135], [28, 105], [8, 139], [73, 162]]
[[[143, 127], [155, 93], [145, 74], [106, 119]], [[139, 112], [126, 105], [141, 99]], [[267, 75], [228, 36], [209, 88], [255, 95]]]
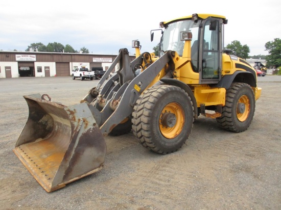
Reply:
[[29, 117], [13, 151], [47, 192], [102, 169], [106, 145], [87, 103], [24, 98]]

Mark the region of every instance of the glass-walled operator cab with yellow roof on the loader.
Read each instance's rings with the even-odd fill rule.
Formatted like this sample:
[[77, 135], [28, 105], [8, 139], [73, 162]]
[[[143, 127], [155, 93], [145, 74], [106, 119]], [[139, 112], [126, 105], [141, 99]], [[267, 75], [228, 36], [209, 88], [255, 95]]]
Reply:
[[[199, 73], [200, 84], [217, 84], [221, 78], [223, 51], [223, 16], [194, 14], [169, 22], [161, 22], [165, 28], [159, 44], [160, 56], [174, 50], [182, 57], [184, 44], [191, 40], [191, 66]], [[182, 33], [192, 33], [192, 39], [181, 38]]]

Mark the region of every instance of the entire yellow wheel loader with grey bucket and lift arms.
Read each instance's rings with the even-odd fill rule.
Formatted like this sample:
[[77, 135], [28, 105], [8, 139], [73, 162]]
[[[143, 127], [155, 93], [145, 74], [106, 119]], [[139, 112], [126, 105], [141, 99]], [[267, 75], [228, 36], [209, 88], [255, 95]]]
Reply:
[[244, 132], [261, 88], [251, 65], [223, 48], [226, 23], [213, 14], [160, 22], [161, 29], [151, 31], [151, 41], [161, 32], [159, 57], [141, 53], [133, 41], [136, 59], [120, 49], [97, 86], [73, 106], [47, 94], [25, 95], [29, 117], [13, 151], [51, 192], [102, 169], [107, 135], [133, 130], [144, 147], [168, 154], [189, 138], [200, 114]]

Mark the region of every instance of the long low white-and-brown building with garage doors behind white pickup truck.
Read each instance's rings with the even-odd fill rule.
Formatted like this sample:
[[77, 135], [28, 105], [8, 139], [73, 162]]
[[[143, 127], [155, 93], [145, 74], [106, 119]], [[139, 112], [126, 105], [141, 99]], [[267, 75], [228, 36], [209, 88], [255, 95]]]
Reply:
[[[103, 67], [107, 70], [116, 57], [117, 55], [63, 52], [0, 51], [0, 78], [69, 76], [82, 65], [88, 68]], [[130, 59], [134, 60], [135, 56], [130, 56]]]

